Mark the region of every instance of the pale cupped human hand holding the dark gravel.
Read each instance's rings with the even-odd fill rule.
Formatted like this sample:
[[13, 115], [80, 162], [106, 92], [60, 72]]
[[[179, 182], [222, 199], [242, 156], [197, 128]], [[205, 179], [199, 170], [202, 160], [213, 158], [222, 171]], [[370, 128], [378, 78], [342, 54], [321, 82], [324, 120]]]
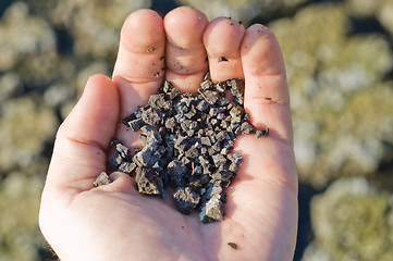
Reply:
[[[229, 61], [219, 63], [219, 57]], [[250, 122], [270, 128], [269, 137], [237, 138], [244, 163], [225, 190], [224, 220], [201, 224], [196, 211], [175, 210], [170, 195], [163, 200], [139, 195], [123, 173], [95, 188], [95, 178], [107, 170], [111, 138], [137, 145], [137, 135], [120, 120], [158, 92], [163, 79], [195, 92], [208, 70], [214, 82], [244, 78]], [[58, 130], [39, 225], [64, 261], [292, 260], [297, 173], [285, 67], [274, 35], [262, 25], [245, 29], [225, 17], [209, 23], [184, 7], [163, 20], [151, 10], [132, 13], [112, 78], [91, 76]]]

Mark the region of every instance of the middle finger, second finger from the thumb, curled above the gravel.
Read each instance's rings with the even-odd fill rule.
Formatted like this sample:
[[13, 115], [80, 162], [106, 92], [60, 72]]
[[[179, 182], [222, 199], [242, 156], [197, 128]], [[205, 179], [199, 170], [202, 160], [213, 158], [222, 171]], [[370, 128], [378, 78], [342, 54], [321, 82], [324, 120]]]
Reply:
[[167, 79], [184, 92], [196, 92], [208, 63], [202, 33], [208, 20], [198, 10], [181, 7], [163, 20], [167, 34]]

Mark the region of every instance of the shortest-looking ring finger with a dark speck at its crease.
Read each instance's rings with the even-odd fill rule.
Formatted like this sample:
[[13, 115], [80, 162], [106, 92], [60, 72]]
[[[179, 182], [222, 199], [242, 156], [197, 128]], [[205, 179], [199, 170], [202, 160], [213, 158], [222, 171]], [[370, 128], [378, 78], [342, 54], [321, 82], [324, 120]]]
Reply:
[[213, 82], [244, 78], [241, 59], [243, 36], [243, 25], [226, 17], [213, 20], [206, 28], [204, 44]]

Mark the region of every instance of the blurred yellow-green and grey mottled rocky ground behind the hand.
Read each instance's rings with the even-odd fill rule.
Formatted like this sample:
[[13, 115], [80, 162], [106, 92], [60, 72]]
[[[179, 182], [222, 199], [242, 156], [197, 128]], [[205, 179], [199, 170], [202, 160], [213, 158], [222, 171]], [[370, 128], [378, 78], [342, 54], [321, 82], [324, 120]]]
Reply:
[[294, 260], [393, 260], [393, 0], [0, 1], [0, 261], [57, 260], [37, 225], [57, 127], [111, 75], [128, 13], [188, 4], [282, 47], [299, 173]]

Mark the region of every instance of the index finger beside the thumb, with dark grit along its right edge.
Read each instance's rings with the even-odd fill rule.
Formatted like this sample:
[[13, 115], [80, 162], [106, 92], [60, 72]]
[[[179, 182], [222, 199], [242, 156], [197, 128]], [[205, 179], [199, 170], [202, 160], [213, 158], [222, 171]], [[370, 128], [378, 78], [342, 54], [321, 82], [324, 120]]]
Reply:
[[138, 10], [125, 20], [113, 70], [122, 117], [158, 91], [164, 75], [164, 45], [162, 20], [155, 11]]

